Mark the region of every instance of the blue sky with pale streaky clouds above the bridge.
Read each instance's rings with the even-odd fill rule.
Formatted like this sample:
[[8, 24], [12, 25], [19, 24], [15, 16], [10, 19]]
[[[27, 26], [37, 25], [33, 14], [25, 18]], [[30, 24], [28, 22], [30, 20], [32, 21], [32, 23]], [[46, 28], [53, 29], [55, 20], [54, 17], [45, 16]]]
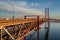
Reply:
[[60, 0], [0, 0], [0, 18], [44, 16], [45, 8], [49, 8], [50, 17], [60, 18]]

